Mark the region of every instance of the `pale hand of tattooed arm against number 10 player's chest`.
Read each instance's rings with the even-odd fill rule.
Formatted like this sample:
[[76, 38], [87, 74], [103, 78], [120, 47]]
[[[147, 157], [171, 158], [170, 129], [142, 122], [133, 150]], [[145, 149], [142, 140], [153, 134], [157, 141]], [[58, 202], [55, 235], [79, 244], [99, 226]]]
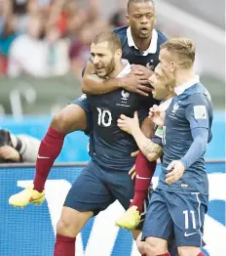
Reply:
[[132, 134], [132, 130], [134, 128], [139, 127], [139, 119], [137, 111], [134, 112], [133, 118], [126, 116], [125, 114], [121, 114], [118, 119], [118, 126], [124, 132]]

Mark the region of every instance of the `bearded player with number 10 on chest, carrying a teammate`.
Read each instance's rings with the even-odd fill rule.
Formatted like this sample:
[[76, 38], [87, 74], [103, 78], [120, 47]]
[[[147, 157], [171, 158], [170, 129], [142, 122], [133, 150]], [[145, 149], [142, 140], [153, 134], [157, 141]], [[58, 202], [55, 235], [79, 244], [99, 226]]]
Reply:
[[[122, 60], [122, 45], [114, 32], [96, 35], [91, 55], [96, 74], [102, 79], [123, 77], [131, 72], [129, 62]], [[88, 96], [88, 100], [94, 127], [92, 160], [66, 196], [57, 223], [56, 256], [74, 256], [76, 235], [87, 221], [116, 199], [127, 209], [133, 195], [133, 181], [128, 170], [134, 164], [131, 153], [137, 146], [131, 135], [117, 127], [117, 119], [122, 113], [132, 116], [138, 109], [139, 121], [142, 121], [147, 114], [143, 97], [118, 89], [104, 95]]]

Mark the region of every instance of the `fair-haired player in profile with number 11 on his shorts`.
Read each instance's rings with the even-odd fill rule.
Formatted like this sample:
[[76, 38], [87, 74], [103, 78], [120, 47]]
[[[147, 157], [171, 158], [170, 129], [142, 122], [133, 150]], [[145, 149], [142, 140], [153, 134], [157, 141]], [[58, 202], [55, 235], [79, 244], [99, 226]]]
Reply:
[[167, 240], [172, 231], [179, 255], [204, 255], [208, 201], [204, 153], [211, 140], [213, 110], [207, 89], [194, 74], [194, 61], [195, 45], [189, 39], [172, 38], [161, 46], [158, 67], [168, 82], [174, 82], [176, 96], [166, 112], [151, 109], [153, 121], [164, 128], [164, 156], [142, 230], [145, 242], [139, 245], [147, 256], [170, 255]]

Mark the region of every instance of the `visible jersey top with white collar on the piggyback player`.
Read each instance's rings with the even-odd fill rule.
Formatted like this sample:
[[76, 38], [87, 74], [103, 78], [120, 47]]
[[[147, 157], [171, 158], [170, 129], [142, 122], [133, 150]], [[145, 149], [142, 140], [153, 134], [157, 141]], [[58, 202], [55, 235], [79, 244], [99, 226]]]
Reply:
[[151, 44], [146, 51], [139, 51], [135, 47], [130, 26], [117, 27], [114, 32], [122, 43], [123, 59], [128, 60], [130, 64], [142, 64], [152, 70], [159, 64], [160, 46], [168, 39], [161, 31], [153, 29]]

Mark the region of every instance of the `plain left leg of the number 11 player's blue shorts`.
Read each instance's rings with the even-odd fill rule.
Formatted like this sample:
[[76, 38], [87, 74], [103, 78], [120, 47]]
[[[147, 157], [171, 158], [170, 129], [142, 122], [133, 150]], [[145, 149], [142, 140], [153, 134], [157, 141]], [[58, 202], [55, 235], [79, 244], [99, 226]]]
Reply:
[[[154, 236], [169, 240], [172, 234], [172, 220], [162, 193], [153, 192], [142, 229], [142, 240]], [[166, 243], [167, 244], [167, 243]]]

